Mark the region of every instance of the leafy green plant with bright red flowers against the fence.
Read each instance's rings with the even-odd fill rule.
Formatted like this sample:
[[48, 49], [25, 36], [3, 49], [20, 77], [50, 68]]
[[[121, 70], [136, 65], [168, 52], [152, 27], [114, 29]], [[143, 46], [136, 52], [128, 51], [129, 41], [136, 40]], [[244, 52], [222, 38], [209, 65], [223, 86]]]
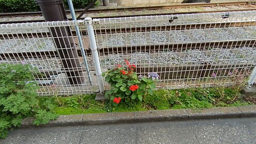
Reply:
[[106, 92], [105, 97], [109, 99], [111, 106], [117, 106], [119, 102], [123, 101], [126, 103], [135, 102], [136, 100], [142, 101], [146, 95], [152, 95], [153, 89], [155, 89], [155, 79], [158, 79], [157, 74], [149, 74], [146, 76], [137, 76], [134, 72], [136, 66], [130, 65], [130, 63], [125, 60], [127, 67], [123, 68], [121, 65], [106, 71], [103, 74], [105, 81], [111, 86], [111, 89]]

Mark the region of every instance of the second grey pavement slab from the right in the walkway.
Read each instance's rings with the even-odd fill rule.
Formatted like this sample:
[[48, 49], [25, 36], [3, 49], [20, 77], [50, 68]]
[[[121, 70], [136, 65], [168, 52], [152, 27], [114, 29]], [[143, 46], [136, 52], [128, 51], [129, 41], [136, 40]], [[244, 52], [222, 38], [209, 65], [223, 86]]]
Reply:
[[137, 143], [198, 143], [186, 122], [143, 123], [137, 129]]

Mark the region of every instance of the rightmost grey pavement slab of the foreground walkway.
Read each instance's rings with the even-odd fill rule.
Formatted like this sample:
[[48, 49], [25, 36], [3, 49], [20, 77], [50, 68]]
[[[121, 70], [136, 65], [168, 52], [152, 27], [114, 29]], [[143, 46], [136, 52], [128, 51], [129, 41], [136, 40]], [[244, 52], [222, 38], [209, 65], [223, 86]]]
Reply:
[[251, 131], [254, 127], [247, 127], [249, 123], [244, 123], [251, 121], [255, 122], [256, 118], [201, 120], [189, 125], [199, 143], [256, 143]]

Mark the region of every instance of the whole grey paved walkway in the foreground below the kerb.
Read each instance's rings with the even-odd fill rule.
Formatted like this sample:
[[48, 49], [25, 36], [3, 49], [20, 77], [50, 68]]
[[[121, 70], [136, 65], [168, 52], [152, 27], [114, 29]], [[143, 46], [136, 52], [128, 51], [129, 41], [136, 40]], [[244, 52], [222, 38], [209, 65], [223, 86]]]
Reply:
[[256, 143], [256, 117], [18, 129], [0, 143]]

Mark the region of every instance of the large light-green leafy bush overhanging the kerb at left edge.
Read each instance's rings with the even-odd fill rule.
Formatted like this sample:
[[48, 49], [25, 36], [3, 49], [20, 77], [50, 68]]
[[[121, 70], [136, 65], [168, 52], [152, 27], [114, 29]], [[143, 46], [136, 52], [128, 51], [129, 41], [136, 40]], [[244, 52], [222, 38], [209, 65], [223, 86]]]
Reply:
[[31, 82], [34, 75], [41, 74], [30, 65], [0, 65], [0, 138], [20, 126], [23, 118], [36, 116], [36, 125], [57, 118], [50, 101], [39, 105], [36, 83]]

